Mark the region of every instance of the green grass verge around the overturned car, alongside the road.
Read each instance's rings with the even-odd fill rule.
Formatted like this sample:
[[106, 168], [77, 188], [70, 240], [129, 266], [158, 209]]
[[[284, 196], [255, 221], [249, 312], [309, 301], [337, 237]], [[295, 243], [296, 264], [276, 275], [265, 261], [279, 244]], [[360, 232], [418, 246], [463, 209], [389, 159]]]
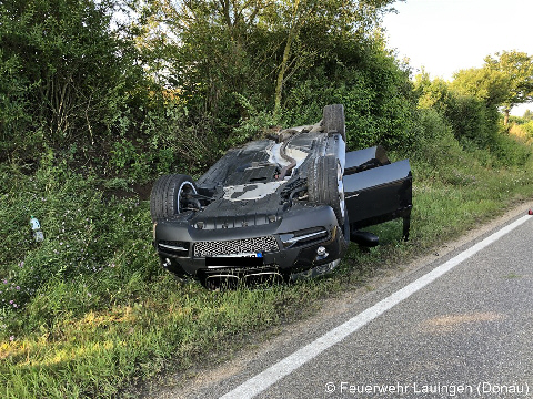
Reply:
[[[215, 293], [160, 268], [147, 202], [113, 197], [90, 173], [48, 165], [28, 176], [3, 166], [0, 397], [124, 397], [161, 371], [220, 361], [250, 334], [268, 337], [314, 313], [322, 298], [363, 286], [533, 196], [531, 160], [503, 167], [486, 154], [453, 152], [450, 163], [412, 161], [410, 242], [400, 241], [401, 222], [390, 222], [372, 227], [380, 247], [352, 245], [330, 276]], [[41, 221], [43, 243], [31, 239], [30, 215]]]

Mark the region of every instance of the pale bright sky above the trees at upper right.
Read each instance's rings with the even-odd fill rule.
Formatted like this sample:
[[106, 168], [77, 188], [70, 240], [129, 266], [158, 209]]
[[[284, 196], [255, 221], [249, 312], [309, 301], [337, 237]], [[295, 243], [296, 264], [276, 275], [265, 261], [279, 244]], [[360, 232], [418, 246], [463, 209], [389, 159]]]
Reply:
[[[383, 25], [390, 49], [432, 79], [481, 68], [486, 55], [517, 50], [533, 55], [533, 0], [406, 0]], [[514, 108], [522, 116], [533, 103]]]

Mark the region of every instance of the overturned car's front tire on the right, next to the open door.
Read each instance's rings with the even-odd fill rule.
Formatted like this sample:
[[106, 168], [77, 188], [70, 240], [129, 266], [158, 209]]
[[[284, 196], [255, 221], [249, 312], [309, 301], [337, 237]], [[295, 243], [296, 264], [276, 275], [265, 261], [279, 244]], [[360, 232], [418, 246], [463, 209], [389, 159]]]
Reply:
[[346, 216], [341, 164], [334, 155], [316, 157], [308, 173], [309, 201], [330, 205], [343, 228]]

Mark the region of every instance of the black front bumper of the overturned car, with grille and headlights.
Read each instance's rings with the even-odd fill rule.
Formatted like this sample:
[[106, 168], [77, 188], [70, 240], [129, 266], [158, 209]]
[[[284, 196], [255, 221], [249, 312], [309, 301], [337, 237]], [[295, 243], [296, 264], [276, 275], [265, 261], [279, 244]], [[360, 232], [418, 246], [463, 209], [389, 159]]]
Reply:
[[202, 229], [192, 215], [154, 226], [154, 246], [163, 267], [198, 279], [265, 269], [288, 276], [339, 259], [343, 239], [333, 209], [325, 205], [294, 206], [269, 224], [247, 227]]

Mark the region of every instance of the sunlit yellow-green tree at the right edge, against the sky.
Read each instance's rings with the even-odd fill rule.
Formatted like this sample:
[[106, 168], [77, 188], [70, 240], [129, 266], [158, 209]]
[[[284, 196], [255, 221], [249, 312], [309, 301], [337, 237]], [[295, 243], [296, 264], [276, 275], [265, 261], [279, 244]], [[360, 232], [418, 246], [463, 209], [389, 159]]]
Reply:
[[484, 68], [502, 73], [506, 80], [507, 93], [501, 105], [504, 109], [504, 124], [507, 124], [511, 109], [533, 101], [533, 57], [525, 52], [503, 51], [486, 57]]

